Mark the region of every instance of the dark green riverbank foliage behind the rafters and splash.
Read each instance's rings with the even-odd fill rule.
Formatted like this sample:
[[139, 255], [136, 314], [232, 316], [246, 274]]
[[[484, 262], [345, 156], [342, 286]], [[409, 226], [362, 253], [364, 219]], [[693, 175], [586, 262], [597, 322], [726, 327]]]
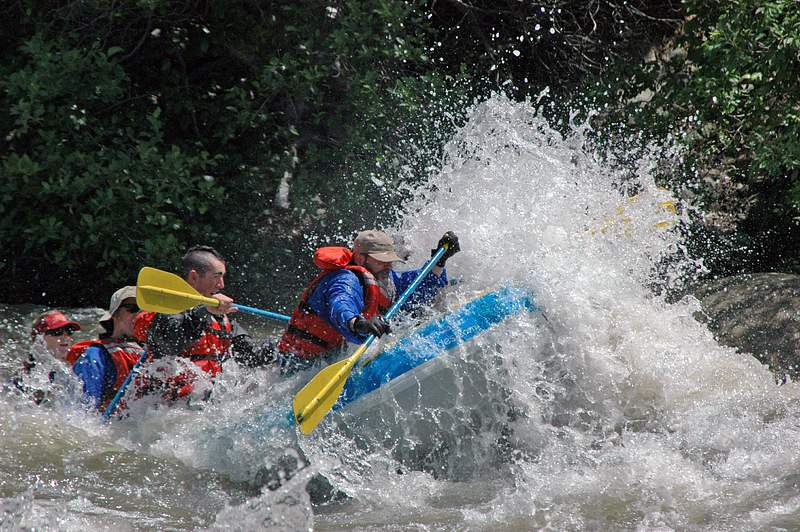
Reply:
[[[737, 242], [781, 228], [796, 257], [793, 4], [14, 2], [0, 21], [7, 301], [97, 303], [197, 243], [231, 256], [241, 287], [296, 285], [301, 233], [389, 223], [472, 98], [590, 73], [605, 77], [587, 109], [609, 104], [598, 132], [679, 137], [691, 156], [665, 180], [743, 216]], [[639, 64], [682, 10], [671, 51]]]

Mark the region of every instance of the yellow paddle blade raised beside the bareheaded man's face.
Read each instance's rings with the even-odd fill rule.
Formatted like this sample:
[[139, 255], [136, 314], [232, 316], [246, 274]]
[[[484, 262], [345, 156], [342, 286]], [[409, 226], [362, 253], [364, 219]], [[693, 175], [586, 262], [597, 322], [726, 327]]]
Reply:
[[197, 305], [219, 305], [205, 297], [174, 273], [145, 266], [136, 279], [136, 304], [139, 308], [162, 314], [177, 314]]

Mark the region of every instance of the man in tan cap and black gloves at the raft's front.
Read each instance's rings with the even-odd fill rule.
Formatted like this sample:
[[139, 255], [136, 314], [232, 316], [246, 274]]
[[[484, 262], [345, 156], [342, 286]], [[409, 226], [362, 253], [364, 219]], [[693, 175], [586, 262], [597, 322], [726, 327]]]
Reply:
[[[439, 288], [447, 286], [445, 263], [460, 248], [452, 231], [442, 236], [436, 249], [445, 244], [447, 251], [406, 302], [406, 308], [430, 301]], [[314, 264], [322, 271], [303, 290], [278, 343], [278, 362], [284, 372], [338, 353], [346, 342], [362, 344], [371, 334], [389, 332], [383, 315], [420, 271], [395, 272], [396, 262], [405, 261], [397, 254], [392, 238], [378, 230], [358, 233], [352, 249], [319, 248]]]

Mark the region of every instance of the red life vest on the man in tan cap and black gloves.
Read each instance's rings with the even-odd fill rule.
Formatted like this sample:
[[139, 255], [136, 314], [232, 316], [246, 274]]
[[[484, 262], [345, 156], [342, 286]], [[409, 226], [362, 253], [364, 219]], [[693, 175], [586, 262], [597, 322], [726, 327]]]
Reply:
[[292, 312], [289, 325], [278, 342], [280, 351], [311, 360], [344, 344], [344, 337], [339, 331], [308, 304], [319, 282], [332, 271], [349, 270], [356, 274], [364, 289], [364, 308], [361, 311], [363, 317], [369, 319], [389, 310], [391, 298], [375, 276], [366, 268], [351, 264], [352, 259], [353, 252], [344, 247], [322, 247], [314, 252], [314, 264], [322, 271], [303, 290], [300, 303]]

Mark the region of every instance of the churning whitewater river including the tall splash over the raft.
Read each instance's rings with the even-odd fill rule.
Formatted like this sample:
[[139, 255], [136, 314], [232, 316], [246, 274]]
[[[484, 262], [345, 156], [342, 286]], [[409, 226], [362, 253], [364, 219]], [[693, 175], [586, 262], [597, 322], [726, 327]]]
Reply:
[[[309, 375], [234, 364], [209, 402], [108, 425], [69, 382], [44, 407], [2, 395], [0, 529], [800, 528], [800, 392], [718, 345], [696, 301], [659, 295], [702, 268], [669, 199], [646, 157], [617, 169], [532, 105], [485, 102], [391, 229], [414, 265], [458, 233], [440, 310], [513, 284], [543, 313], [310, 437], [281, 422]], [[2, 380], [37, 310], [0, 307]]]

